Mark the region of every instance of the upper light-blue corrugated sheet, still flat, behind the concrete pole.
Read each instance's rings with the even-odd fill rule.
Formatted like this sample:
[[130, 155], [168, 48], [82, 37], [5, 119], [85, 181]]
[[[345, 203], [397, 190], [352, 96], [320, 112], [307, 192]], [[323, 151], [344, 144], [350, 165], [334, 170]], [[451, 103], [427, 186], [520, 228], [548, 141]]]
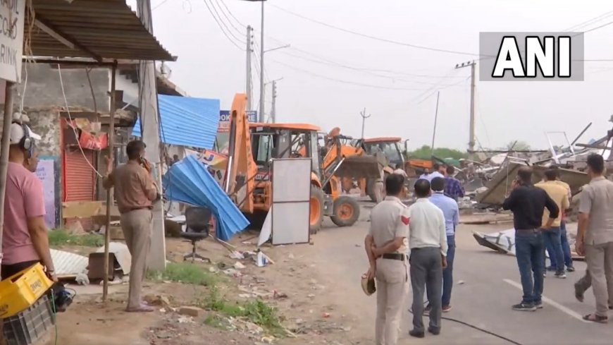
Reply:
[[[158, 95], [163, 143], [212, 149], [219, 123], [219, 99]], [[132, 135], [140, 137], [140, 119]]]

